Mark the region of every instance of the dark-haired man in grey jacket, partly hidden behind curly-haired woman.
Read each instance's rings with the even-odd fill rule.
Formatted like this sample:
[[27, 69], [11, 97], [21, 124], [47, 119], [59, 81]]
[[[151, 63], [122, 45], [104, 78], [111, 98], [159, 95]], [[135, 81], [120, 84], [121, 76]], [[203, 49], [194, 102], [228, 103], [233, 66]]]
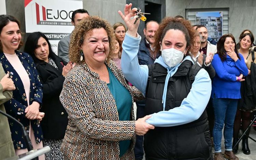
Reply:
[[[77, 25], [80, 20], [89, 16], [89, 13], [84, 9], [75, 10], [72, 13], [71, 23], [73, 26]], [[69, 42], [70, 42], [70, 35], [67, 37], [62, 38], [58, 43], [58, 56], [69, 62]]]

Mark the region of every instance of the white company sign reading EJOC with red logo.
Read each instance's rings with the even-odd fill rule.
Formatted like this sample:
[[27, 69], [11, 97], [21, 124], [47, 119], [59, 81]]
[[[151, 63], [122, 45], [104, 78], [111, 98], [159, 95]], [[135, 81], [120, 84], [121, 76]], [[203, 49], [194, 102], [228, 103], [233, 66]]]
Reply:
[[24, 0], [26, 33], [40, 31], [46, 35], [57, 54], [58, 42], [69, 35], [74, 26], [74, 10], [83, 8], [82, 0]]

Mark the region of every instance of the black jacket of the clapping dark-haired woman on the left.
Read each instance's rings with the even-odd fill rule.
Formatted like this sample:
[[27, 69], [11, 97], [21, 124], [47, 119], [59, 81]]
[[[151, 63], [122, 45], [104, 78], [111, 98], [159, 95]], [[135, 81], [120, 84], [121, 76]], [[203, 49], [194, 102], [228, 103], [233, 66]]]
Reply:
[[33, 58], [43, 85], [43, 104], [40, 110], [45, 113], [41, 122], [43, 135], [46, 139], [63, 139], [68, 125], [68, 114], [60, 103], [59, 95], [65, 80], [65, 77], [62, 76], [62, 68], [63, 65], [67, 65], [67, 62], [52, 54], [51, 58], [58, 67], [56, 69], [51, 64]]

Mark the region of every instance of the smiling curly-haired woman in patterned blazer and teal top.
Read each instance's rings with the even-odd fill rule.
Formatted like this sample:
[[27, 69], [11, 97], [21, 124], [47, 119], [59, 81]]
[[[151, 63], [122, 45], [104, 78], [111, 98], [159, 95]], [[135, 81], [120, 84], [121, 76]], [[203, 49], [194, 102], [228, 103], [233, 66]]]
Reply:
[[129, 87], [111, 60], [115, 37], [98, 16], [82, 20], [71, 35], [69, 55], [75, 67], [65, 77], [60, 102], [68, 113], [62, 142], [64, 159], [134, 159], [135, 134], [154, 126], [134, 121], [133, 99], [143, 98]]

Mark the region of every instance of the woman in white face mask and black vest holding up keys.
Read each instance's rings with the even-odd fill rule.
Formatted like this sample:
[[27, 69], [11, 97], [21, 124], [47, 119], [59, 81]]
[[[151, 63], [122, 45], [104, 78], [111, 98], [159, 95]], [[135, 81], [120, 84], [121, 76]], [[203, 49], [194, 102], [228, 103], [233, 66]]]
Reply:
[[[161, 56], [149, 66], [139, 65], [137, 53], [141, 40], [130, 18], [136, 8], [126, 4], [128, 27], [123, 42], [122, 71], [146, 97], [145, 114], [155, 126], [144, 135], [146, 159], [212, 159], [211, 139], [205, 107], [211, 95], [211, 79], [201, 69], [192, 70], [193, 60], [185, 56], [194, 42], [195, 31], [189, 21], [167, 17], [155, 34], [156, 52]], [[148, 81], [150, 77], [150, 80]]]

